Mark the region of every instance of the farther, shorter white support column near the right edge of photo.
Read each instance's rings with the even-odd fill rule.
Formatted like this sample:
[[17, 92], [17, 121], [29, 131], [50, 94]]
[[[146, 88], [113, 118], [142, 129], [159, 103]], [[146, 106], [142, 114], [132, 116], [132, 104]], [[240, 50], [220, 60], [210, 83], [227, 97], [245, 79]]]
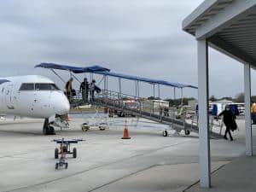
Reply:
[[244, 64], [244, 100], [246, 155], [253, 156], [253, 137], [251, 119], [251, 67], [249, 64]]

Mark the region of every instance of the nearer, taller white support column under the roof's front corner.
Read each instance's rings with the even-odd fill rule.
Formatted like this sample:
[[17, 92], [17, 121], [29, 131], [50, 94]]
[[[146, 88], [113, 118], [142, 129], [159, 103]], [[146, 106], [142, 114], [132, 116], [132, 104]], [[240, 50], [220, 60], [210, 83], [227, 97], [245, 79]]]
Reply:
[[211, 154], [208, 115], [208, 44], [207, 40], [197, 41], [198, 55], [198, 113], [199, 113], [199, 163], [201, 187], [211, 187]]

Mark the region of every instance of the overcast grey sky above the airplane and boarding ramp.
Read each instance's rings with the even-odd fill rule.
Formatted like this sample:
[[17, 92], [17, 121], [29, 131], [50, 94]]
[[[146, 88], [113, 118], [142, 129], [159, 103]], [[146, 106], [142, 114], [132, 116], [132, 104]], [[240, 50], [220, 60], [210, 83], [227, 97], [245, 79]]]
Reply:
[[[197, 85], [195, 38], [183, 32], [181, 24], [201, 2], [4, 1], [0, 7], [0, 76], [36, 73], [63, 86], [48, 70], [33, 68], [44, 61], [84, 67], [98, 64], [117, 73]], [[241, 92], [242, 69], [237, 61], [211, 50], [210, 95]], [[67, 78], [67, 73], [61, 75]], [[110, 79], [110, 85], [117, 90], [115, 79]], [[152, 85], [141, 87], [143, 96], [152, 96]], [[124, 82], [126, 93], [134, 89], [133, 82]], [[197, 96], [197, 91], [187, 89], [184, 95]], [[172, 96], [172, 89], [161, 88], [161, 96]]]

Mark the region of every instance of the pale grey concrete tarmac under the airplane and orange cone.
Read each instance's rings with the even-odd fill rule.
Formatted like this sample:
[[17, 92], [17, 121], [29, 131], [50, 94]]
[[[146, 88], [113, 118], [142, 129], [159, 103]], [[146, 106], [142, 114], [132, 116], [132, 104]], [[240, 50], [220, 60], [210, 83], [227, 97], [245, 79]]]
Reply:
[[[243, 167], [253, 170], [248, 166], [251, 164], [244, 162], [256, 164], [255, 158], [238, 158], [245, 152], [242, 119], [237, 121], [240, 130], [235, 132], [234, 142], [211, 140], [212, 186], [216, 187], [206, 190], [197, 184], [197, 134], [162, 137], [166, 125], [140, 119], [136, 126], [137, 119], [128, 118], [131, 139], [122, 140], [125, 119], [112, 119], [106, 131], [97, 127], [81, 131], [84, 121], [86, 118], [73, 117], [70, 128], [62, 131], [56, 128], [55, 136], [42, 135], [41, 119], [1, 121], [0, 191], [241, 191], [219, 190], [232, 181], [236, 183], [236, 179], [225, 174], [233, 177], [236, 172], [235, 176], [242, 178]], [[57, 145], [51, 141], [62, 137], [85, 141], [72, 146], [78, 148], [78, 158], [67, 159], [67, 170], [55, 170]], [[253, 177], [250, 179], [253, 182]]]

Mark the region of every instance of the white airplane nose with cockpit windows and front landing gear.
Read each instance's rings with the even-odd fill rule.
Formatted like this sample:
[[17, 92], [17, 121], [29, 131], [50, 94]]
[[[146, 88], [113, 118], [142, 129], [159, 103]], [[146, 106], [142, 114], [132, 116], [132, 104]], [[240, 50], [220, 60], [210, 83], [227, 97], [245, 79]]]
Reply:
[[52, 125], [64, 121], [69, 109], [67, 96], [44, 76], [0, 78], [0, 113], [44, 119], [44, 135], [55, 134]]

